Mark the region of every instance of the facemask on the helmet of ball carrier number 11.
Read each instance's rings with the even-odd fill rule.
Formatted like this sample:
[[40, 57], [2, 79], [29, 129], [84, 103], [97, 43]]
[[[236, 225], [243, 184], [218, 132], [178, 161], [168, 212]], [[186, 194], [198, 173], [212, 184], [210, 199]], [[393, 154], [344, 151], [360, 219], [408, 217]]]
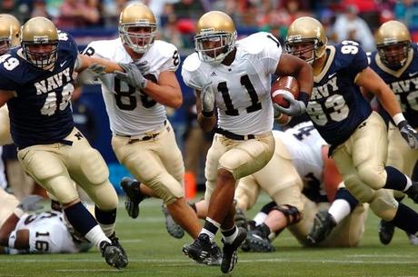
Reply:
[[[230, 32], [204, 32], [194, 36], [194, 50], [199, 54], [201, 61], [207, 64], [218, 65], [235, 48], [236, 31]], [[208, 45], [215, 45], [208, 48]]]

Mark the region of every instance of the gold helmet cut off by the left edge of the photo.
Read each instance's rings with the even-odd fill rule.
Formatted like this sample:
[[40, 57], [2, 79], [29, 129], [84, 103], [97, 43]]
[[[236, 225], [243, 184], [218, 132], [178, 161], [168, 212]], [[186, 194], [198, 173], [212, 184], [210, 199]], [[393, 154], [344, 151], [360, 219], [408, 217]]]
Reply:
[[0, 54], [19, 45], [20, 23], [13, 15], [0, 15]]

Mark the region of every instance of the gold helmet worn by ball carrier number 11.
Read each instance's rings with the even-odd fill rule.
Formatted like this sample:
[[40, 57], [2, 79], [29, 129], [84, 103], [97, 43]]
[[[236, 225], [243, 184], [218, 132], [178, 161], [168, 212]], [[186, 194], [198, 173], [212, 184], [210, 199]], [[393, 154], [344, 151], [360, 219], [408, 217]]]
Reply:
[[235, 48], [236, 30], [233, 19], [223, 12], [208, 12], [197, 21], [194, 48], [208, 64], [221, 64]]

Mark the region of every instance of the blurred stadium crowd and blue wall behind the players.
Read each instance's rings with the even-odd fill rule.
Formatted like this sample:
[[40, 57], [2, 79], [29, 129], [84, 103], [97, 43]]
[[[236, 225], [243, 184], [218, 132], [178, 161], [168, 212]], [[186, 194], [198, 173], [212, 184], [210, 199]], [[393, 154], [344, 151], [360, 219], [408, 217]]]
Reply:
[[[137, 1], [2, 0], [0, 13], [15, 15], [21, 23], [25, 23], [33, 16], [49, 17], [59, 29], [75, 36], [79, 50], [82, 51], [93, 40], [117, 37], [118, 15], [123, 6], [131, 2]], [[369, 32], [373, 34], [379, 25], [391, 19], [403, 21], [410, 29], [413, 41], [418, 41], [418, 1], [414, 0], [150, 0], [143, 2], [152, 8], [157, 17], [159, 38], [176, 45], [182, 60], [194, 51], [193, 35], [196, 18], [212, 9], [222, 10], [233, 16], [239, 37], [267, 31], [283, 42], [287, 25], [294, 18], [311, 15], [323, 23], [330, 43], [348, 38], [360, 42], [366, 51], [372, 51], [373, 44], [367, 42], [365, 40], [367, 35], [363, 34]], [[338, 29], [339, 25], [342, 25], [341, 22], [345, 23], [343, 30]], [[351, 29], [347, 32], [346, 29], [349, 28]], [[348, 37], [341, 37], [343, 33]], [[373, 40], [373, 36], [370, 39]], [[177, 143], [184, 155], [187, 155], [189, 153], [186, 153], [184, 144], [190, 128], [194, 126], [194, 93], [185, 86], [180, 73], [181, 67], [176, 74], [182, 86], [184, 104], [178, 110], [169, 110], [168, 114], [174, 126]], [[74, 111], [75, 123], [93, 146], [103, 154], [110, 169], [111, 182], [120, 192], [118, 183], [129, 173], [119, 165], [112, 152], [111, 133], [100, 86], [83, 87], [83, 93], [74, 104]], [[210, 142], [210, 138], [208, 141]], [[199, 161], [198, 167], [202, 169], [204, 154], [201, 153]], [[202, 170], [196, 174], [199, 188], [203, 189]]]

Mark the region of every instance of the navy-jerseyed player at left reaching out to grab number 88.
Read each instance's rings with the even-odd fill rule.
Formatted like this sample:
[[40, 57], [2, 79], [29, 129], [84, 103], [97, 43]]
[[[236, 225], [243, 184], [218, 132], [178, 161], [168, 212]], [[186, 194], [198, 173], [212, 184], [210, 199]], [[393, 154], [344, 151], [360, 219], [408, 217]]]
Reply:
[[[71, 35], [58, 32], [45, 17], [34, 17], [21, 29], [20, 47], [1, 57], [0, 106], [7, 103], [25, 172], [63, 204], [68, 221], [100, 248], [107, 263], [123, 268], [127, 257], [114, 236], [117, 194], [104, 159], [75, 129], [71, 113], [73, 72], [95, 63], [108, 72], [121, 70], [78, 54]], [[97, 221], [80, 202], [73, 182], [95, 202]]]

